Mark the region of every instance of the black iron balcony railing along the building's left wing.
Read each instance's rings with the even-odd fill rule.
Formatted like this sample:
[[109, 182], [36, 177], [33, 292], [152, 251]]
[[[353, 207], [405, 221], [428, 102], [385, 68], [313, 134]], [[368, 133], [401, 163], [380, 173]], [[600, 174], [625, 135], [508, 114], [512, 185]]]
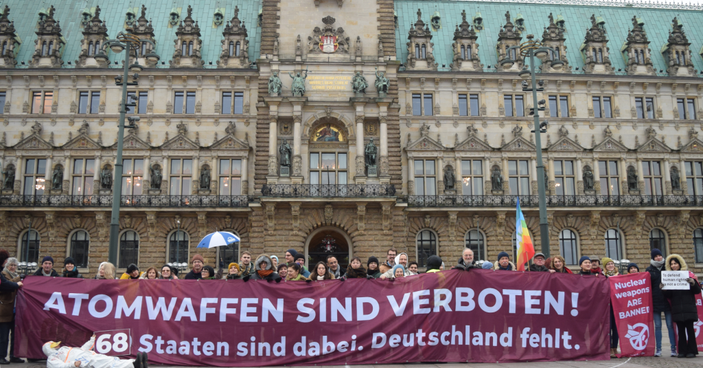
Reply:
[[[237, 208], [249, 196], [122, 196], [123, 208]], [[112, 196], [0, 196], [3, 207], [111, 208]]]

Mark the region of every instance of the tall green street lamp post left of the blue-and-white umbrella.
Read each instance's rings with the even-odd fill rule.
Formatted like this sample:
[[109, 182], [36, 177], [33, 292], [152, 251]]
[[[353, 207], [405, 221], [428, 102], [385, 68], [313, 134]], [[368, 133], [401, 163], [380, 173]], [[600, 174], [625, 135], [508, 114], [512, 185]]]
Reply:
[[[148, 39], [139, 39], [134, 34], [131, 34], [131, 29], [127, 29], [127, 32], [120, 32], [117, 34], [117, 39], [109, 39], [103, 44], [103, 50], [98, 53], [96, 58], [103, 58], [107, 60], [105, 55], [105, 49], [108, 47], [112, 52], [121, 53], [122, 50], [126, 51], [124, 53], [124, 73], [122, 76], [118, 75], [115, 77], [115, 84], [122, 86], [122, 104], [120, 105], [120, 122], [117, 126], [117, 157], [115, 158], [115, 182], [112, 188], [112, 215], [110, 217], [110, 248], [108, 250], [108, 261], [112, 264], [117, 263], [117, 241], [120, 234], [120, 205], [122, 204], [122, 144], [124, 144], [124, 117], [127, 114], [127, 107], [136, 106], [135, 103], [130, 103], [127, 101], [127, 86], [137, 86], [139, 75], [136, 73], [141, 71], [143, 68], [138, 62], [134, 64], [129, 64], [129, 52], [131, 47], [138, 49], [141, 42], [148, 42], [152, 45], [154, 43]], [[136, 56], [136, 53], [135, 53]], [[133, 82], [127, 82], [129, 77], [129, 71], [134, 71], [132, 76]], [[134, 122], [139, 121], [138, 117], [128, 118], [130, 125], [127, 128], [134, 128]]]

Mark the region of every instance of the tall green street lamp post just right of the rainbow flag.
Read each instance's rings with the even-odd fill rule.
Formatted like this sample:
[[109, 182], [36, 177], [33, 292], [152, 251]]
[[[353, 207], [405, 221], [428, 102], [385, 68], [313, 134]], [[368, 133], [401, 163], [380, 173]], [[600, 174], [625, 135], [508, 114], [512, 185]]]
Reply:
[[[539, 81], [536, 82], [536, 77], [535, 77], [535, 72], [534, 72], [534, 57], [537, 56], [540, 58], [540, 60], [545, 63], [548, 60], [548, 57], [550, 56], [557, 56], [557, 51], [554, 49], [548, 47], [548, 46], [543, 46], [541, 42], [534, 41], [534, 35], [533, 34], [528, 34], [527, 35], [527, 42], [523, 42], [520, 44], [520, 46], [512, 46], [508, 49], [508, 55], [510, 55], [510, 50], [512, 49], [519, 49], [520, 50], [520, 56], [523, 57], [523, 60], [525, 57], [529, 57], [529, 70], [525, 68], [524, 66], [522, 67], [522, 70], [520, 71], [520, 77], [522, 77], [523, 82], [522, 82], [522, 90], [523, 91], [531, 91], [532, 92], [532, 108], [531, 113], [534, 113], [534, 136], [535, 136], [535, 144], [536, 144], [536, 151], [537, 151], [537, 193], [539, 195], [539, 231], [540, 231], [540, 238], [541, 238], [541, 246], [542, 246], [542, 253], [544, 254], [545, 258], [550, 257], [550, 252], [549, 252], [549, 224], [547, 222], [547, 201], [546, 201], [546, 188], [545, 185], [546, 183], [544, 182], [544, 164], [542, 162], [542, 138], [541, 134], [547, 132], [547, 122], [539, 122], [539, 111], [544, 110], [544, 106], [546, 106], [546, 103], [544, 100], [537, 101], [537, 92], [539, 91], [544, 91], [543, 88], [543, 82]], [[552, 57], [554, 59], [554, 57]], [[562, 65], [564, 65], [563, 61], [560, 60], [552, 60], [550, 61], [552, 68], [555, 70], [559, 70]], [[531, 86], [528, 87], [527, 85], [527, 79], [531, 78]]]

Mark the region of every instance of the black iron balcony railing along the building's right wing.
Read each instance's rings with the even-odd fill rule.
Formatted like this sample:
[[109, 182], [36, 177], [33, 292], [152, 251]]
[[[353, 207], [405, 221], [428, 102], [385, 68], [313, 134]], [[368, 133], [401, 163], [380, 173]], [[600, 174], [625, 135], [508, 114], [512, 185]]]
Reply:
[[[539, 196], [408, 196], [409, 207], [538, 207]], [[547, 207], [696, 207], [703, 196], [546, 196]]]

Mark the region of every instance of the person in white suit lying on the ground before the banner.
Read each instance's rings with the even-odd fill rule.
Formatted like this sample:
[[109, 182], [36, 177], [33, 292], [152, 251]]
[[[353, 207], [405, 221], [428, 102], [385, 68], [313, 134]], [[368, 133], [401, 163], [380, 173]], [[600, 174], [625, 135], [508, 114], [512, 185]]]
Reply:
[[95, 353], [95, 335], [80, 348], [63, 346], [56, 349], [58, 344], [49, 341], [42, 346], [46, 368], [148, 368], [146, 353], [137, 353], [136, 360]]

